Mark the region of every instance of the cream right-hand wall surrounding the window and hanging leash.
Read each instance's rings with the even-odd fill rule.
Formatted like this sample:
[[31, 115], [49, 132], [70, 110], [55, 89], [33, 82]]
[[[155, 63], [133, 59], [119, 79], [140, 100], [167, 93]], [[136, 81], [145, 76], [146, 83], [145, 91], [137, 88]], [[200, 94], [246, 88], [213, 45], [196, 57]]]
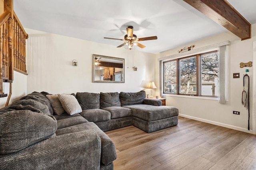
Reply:
[[[169, 106], [178, 107], [180, 114], [184, 117], [197, 119], [240, 131], [248, 131], [248, 110], [241, 104], [242, 90], [243, 90], [243, 74], [246, 69], [249, 69], [250, 86], [252, 84], [252, 67], [240, 68], [240, 63], [247, 63], [252, 61], [252, 43], [256, 41], [256, 24], [252, 25], [252, 38], [241, 41], [238, 37], [230, 32], [222, 33], [207, 39], [191, 42], [176, 49], [164, 51], [157, 55], [157, 58], [166, 57], [177, 54], [178, 50], [196, 45], [196, 48], [205, 47], [223, 41], [231, 41], [229, 47], [229, 61], [228, 61], [228, 102], [227, 104], [219, 104], [216, 100], [203, 100], [195, 98], [183, 98], [176, 96], [165, 96], [166, 104]], [[255, 49], [254, 49], [255, 50]], [[252, 65], [254, 66], [255, 63]], [[159, 81], [159, 62], [156, 63], [156, 80]], [[233, 73], [240, 72], [240, 78], [233, 78]], [[158, 82], [156, 81], [156, 82]], [[252, 88], [251, 88], [252, 89]], [[252, 94], [252, 90], [250, 90]], [[159, 94], [159, 90], [157, 91]], [[252, 101], [252, 98], [251, 100]], [[253, 108], [255, 109], [255, 108]], [[240, 115], [234, 115], [233, 111], [240, 111]], [[252, 108], [251, 108], [252, 112]], [[250, 119], [252, 129], [252, 118]]]

